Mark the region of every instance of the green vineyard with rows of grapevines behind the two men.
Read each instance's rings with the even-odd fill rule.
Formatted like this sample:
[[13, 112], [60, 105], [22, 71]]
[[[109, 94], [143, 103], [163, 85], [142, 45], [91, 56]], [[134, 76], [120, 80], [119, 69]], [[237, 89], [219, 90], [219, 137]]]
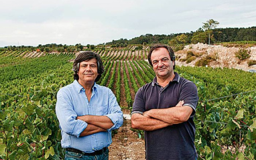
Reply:
[[[154, 72], [144, 47], [95, 48], [105, 72], [97, 82], [131, 110]], [[56, 94], [72, 83], [75, 53], [0, 52], [0, 159], [63, 159]], [[256, 159], [256, 74], [229, 68], [176, 66], [198, 87], [198, 159]], [[141, 131], [137, 131], [140, 133]]]

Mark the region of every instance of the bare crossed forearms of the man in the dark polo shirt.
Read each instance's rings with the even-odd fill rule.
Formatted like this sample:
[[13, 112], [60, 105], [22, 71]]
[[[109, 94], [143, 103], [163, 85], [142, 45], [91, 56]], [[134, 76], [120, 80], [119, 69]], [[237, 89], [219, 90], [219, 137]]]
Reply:
[[134, 113], [131, 115], [131, 127], [144, 131], [154, 131], [170, 125], [183, 123], [193, 112], [190, 106], [182, 106], [183, 100], [171, 108], [151, 109], [143, 114]]

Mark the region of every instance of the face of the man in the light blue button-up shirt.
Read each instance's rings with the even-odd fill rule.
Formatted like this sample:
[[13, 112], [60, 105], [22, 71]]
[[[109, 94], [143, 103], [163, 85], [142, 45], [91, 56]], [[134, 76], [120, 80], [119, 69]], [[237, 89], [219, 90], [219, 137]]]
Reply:
[[80, 84], [84, 82], [94, 82], [98, 74], [97, 60], [95, 58], [80, 62], [78, 76]]

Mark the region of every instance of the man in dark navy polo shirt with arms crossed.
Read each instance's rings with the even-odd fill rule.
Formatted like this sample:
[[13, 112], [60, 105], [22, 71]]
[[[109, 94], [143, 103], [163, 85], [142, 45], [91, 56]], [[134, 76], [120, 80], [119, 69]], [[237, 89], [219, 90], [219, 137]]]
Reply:
[[148, 60], [156, 77], [139, 88], [131, 112], [132, 128], [145, 131], [146, 159], [194, 160], [196, 85], [174, 72], [169, 46], [152, 46]]

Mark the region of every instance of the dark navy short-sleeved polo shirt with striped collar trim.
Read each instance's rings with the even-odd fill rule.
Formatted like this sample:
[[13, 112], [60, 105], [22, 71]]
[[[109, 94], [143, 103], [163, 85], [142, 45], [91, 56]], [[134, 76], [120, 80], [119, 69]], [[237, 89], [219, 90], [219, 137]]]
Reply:
[[142, 114], [153, 108], [174, 107], [180, 100], [184, 100], [184, 106], [193, 109], [192, 115], [184, 123], [155, 131], [145, 131], [147, 159], [195, 159], [196, 127], [193, 119], [198, 103], [198, 92], [193, 82], [180, 77], [176, 72], [174, 80], [165, 88], [159, 86], [154, 78], [153, 82], [145, 84], [137, 91], [132, 114]]

